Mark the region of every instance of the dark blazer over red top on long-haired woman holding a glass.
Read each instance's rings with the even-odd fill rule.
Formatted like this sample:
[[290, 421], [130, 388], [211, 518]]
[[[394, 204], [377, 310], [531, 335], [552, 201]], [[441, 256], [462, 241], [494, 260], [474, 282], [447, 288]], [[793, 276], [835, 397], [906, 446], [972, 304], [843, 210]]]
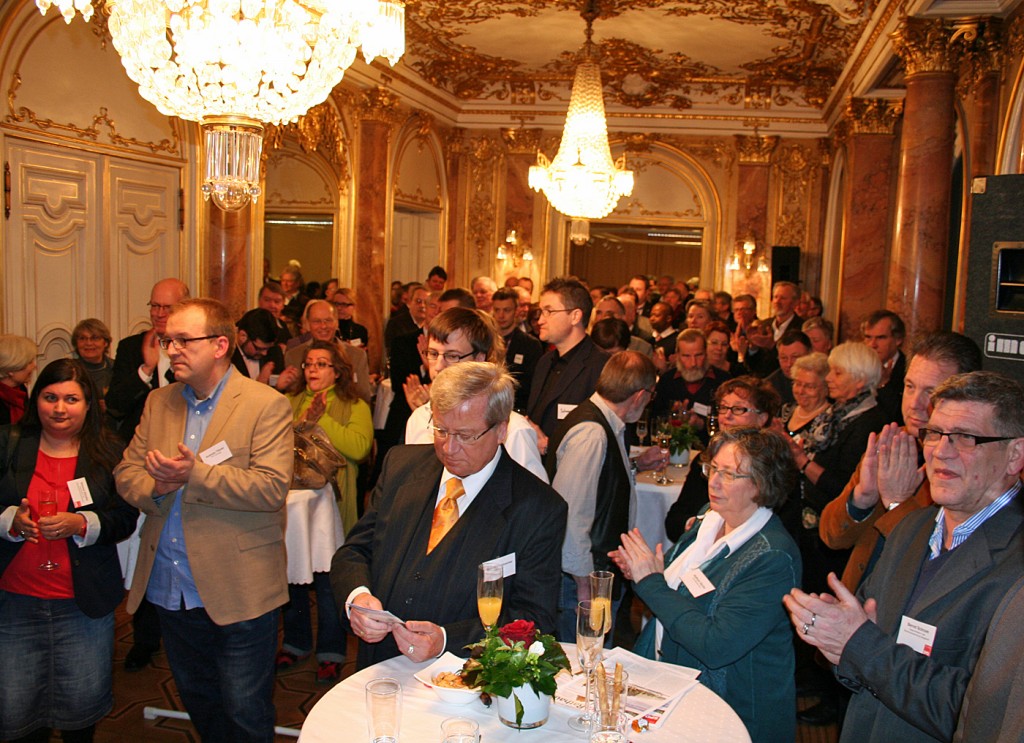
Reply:
[[[0, 471], [7, 467], [9, 433], [10, 427], [0, 428], [0, 456], [3, 456]], [[26, 497], [38, 453], [39, 435], [23, 433], [11, 469], [0, 478], [0, 510], [18, 506]], [[69, 502], [69, 513], [91, 511], [99, 519], [99, 537], [94, 544], [80, 548], [72, 537], [65, 540], [71, 560], [75, 603], [87, 616], [101, 617], [114, 611], [124, 599], [124, 577], [115, 544], [135, 530], [138, 512], [118, 495], [111, 471], [92, 466], [85, 454], [79, 454], [75, 477], [86, 478], [92, 502], [81, 509]], [[7, 569], [24, 543], [0, 539], [0, 573]]]

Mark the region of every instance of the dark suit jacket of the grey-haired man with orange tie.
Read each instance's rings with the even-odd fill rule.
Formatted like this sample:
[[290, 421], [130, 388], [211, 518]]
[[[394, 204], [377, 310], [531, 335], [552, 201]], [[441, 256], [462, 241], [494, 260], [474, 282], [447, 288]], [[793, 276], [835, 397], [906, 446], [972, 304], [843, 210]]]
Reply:
[[[515, 553], [516, 573], [505, 579], [500, 622], [528, 619], [553, 631], [565, 501], [503, 449], [494, 475], [427, 556], [442, 469], [430, 445], [391, 449], [370, 508], [334, 556], [336, 601], [343, 608], [352, 589], [365, 585], [402, 619], [443, 626], [447, 650], [465, 655], [464, 646], [483, 636], [476, 611], [476, 566]], [[360, 643], [357, 664], [396, 655], [389, 635], [380, 643]]]

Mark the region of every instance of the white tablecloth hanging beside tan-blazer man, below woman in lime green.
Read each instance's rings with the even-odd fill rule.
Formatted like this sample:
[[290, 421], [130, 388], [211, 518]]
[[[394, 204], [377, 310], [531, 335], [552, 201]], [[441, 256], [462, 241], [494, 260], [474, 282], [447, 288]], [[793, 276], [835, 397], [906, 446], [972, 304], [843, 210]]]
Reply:
[[288, 491], [288, 582], [311, 583], [314, 572], [330, 572], [331, 559], [344, 543], [331, 483], [319, 490]]

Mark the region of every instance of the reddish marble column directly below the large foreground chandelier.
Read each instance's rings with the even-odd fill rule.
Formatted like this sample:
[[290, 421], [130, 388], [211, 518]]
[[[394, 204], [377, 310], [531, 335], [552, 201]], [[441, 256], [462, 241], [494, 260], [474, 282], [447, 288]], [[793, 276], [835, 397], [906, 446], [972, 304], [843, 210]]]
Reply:
[[225, 212], [206, 205], [208, 238], [202, 296], [220, 300], [241, 317], [249, 308], [247, 256], [252, 243], [252, 206]]

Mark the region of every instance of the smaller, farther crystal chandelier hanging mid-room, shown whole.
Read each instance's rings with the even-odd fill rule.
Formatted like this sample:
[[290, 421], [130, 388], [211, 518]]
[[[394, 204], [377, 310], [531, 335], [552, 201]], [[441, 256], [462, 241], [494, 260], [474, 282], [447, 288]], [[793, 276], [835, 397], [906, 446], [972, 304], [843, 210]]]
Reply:
[[590, 237], [587, 220], [607, 216], [622, 196], [633, 192], [633, 171], [626, 170], [626, 156], [612, 161], [608, 146], [601, 69], [592, 58], [595, 0], [582, 15], [587, 21], [587, 43], [572, 81], [562, 141], [553, 161], [544, 152], [537, 154], [528, 180], [534, 190], [544, 191], [552, 207], [573, 220], [570, 238], [577, 244]]

